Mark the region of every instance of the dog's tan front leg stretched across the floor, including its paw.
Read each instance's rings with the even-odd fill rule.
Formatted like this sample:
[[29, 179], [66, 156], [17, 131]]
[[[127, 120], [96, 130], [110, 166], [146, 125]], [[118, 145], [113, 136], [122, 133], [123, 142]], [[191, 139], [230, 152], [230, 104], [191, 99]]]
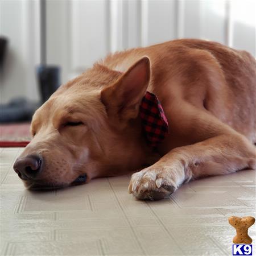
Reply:
[[[213, 115], [193, 106], [187, 107], [182, 112], [179, 110], [172, 122], [183, 120], [180, 130], [184, 134], [191, 132], [191, 126], [196, 124], [200, 142], [177, 147], [152, 166], [133, 174], [129, 191], [138, 199], [159, 200], [174, 192], [184, 181], [255, 168], [255, 147], [243, 135]], [[193, 134], [191, 137], [195, 136]]]

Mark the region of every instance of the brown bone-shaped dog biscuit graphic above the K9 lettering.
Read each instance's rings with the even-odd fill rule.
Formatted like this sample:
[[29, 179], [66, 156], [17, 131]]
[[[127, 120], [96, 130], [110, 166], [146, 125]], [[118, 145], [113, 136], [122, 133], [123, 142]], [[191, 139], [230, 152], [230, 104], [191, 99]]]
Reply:
[[255, 222], [255, 218], [248, 217], [229, 217], [229, 224], [232, 225], [236, 231], [237, 235], [233, 238], [233, 243], [246, 243], [249, 245], [253, 240], [248, 236], [248, 229]]

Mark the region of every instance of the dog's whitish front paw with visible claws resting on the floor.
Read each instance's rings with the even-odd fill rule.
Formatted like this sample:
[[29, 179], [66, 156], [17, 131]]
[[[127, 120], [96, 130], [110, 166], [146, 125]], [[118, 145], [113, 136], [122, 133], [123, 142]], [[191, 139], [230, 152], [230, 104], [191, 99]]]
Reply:
[[131, 176], [129, 192], [140, 200], [160, 200], [177, 189], [170, 168], [148, 167]]

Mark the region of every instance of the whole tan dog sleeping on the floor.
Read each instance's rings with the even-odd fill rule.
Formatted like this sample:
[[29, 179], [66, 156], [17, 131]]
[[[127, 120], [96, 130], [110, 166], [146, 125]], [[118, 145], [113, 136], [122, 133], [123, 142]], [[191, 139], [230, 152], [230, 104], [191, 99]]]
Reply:
[[[129, 192], [159, 200], [189, 180], [255, 168], [255, 70], [246, 51], [197, 39], [110, 54], [36, 110], [14, 170], [30, 189], [134, 172]], [[168, 126], [154, 144], [146, 94]]]

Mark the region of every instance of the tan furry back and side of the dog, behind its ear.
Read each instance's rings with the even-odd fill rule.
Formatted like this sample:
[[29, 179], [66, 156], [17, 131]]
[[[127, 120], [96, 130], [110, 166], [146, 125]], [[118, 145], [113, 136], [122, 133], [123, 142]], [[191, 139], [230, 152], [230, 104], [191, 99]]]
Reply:
[[149, 89], [163, 106], [183, 97], [256, 142], [256, 62], [250, 53], [216, 42], [181, 39], [114, 53], [102, 64], [125, 72], [145, 55], [151, 60]]

